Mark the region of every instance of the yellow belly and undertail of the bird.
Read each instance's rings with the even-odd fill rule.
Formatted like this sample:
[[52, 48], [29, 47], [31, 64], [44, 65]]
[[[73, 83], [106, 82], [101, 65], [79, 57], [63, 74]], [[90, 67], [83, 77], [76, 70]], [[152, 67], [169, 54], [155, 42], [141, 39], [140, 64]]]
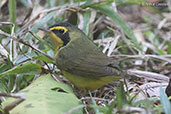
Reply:
[[90, 91], [96, 90], [109, 82], [119, 80], [121, 78], [119, 76], [105, 76], [95, 79], [84, 76], [76, 76], [66, 71], [62, 71], [62, 73], [77, 88]]

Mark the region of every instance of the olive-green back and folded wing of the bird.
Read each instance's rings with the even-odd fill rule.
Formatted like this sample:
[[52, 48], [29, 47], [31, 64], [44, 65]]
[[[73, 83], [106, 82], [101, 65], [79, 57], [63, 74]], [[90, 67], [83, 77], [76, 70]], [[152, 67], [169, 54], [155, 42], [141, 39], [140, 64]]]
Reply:
[[81, 30], [71, 29], [76, 29], [70, 32], [71, 41], [59, 49], [56, 57], [59, 69], [93, 78], [120, 75], [118, 69], [111, 67], [117, 66], [116, 61], [103, 54]]

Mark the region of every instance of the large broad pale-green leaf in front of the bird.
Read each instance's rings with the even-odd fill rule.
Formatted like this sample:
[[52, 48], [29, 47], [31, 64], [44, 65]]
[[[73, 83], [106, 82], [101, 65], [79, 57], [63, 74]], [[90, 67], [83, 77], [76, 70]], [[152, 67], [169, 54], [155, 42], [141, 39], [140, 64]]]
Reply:
[[[10, 114], [65, 114], [81, 105], [81, 101], [68, 85], [55, 81], [50, 75], [39, 77], [20, 93], [25, 94], [26, 100], [15, 107]], [[7, 99], [3, 107], [14, 100]], [[82, 113], [82, 109], [72, 112], [72, 114]]]

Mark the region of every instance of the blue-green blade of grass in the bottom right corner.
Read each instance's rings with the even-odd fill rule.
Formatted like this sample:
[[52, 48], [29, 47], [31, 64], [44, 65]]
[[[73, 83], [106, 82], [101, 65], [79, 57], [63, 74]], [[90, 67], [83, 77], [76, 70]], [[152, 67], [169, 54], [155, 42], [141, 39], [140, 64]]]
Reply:
[[160, 102], [163, 105], [164, 112], [166, 114], [170, 114], [171, 112], [171, 103], [165, 94], [164, 90], [162, 87], [160, 87]]

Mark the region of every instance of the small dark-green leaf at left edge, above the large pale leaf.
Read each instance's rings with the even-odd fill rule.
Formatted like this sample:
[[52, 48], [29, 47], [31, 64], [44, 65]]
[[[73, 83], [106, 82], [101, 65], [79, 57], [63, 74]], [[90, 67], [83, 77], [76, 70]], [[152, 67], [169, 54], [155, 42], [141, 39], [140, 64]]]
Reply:
[[22, 66], [16, 66], [12, 69], [9, 69], [9, 70], [1, 73], [0, 78], [2, 78], [5, 75], [16, 75], [16, 74], [34, 75], [34, 74], [38, 74], [40, 72], [41, 72], [41, 65], [29, 63], [29, 64], [24, 64]]

